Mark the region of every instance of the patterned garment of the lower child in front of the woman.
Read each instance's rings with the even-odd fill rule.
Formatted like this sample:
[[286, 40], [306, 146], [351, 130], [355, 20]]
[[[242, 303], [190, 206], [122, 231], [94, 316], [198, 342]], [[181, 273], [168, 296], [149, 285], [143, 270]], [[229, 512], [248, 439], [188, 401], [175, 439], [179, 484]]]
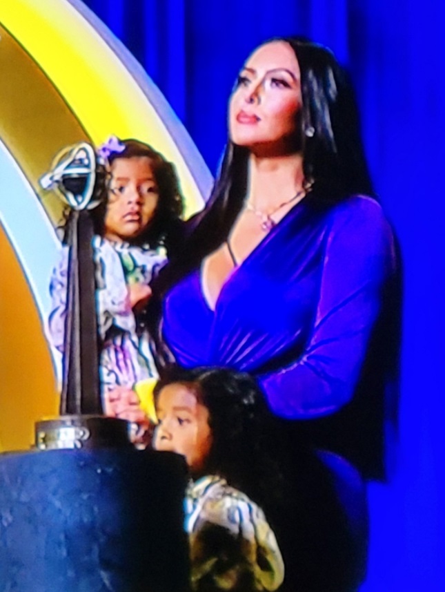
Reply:
[[192, 590], [274, 591], [284, 563], [263, 510], [219, 477], [188, 491]]

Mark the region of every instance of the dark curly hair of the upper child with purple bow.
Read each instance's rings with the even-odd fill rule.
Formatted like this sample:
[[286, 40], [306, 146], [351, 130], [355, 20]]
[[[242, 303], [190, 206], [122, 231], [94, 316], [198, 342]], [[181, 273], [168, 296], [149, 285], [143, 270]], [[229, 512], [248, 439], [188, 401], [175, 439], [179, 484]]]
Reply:
[[[108, 163], [112, 165], [117, 158], [148, 157], [159, 188], [159, 201], [152, 220], [150, 220], [146, 229], [130, 242], [133, 245], [150, 245], [150, 247], [155, 248], [161, 241], [166, 241], [165, 246], [169, 250], [169, 235], [179, 229], [180, 218], [184, 209], [175, 165], [168, 162], [152, 146], [139, 142], [139, 140], [119, 140], [119, 143], [123, 144], [125, 148], [121, 152], [112, 152], [108, 156]], [[101, 188], [99, 206], [91, 211], [95, 233], [99, 235], [103, 235], [104, 231], [103, 222], [108, 200], [108, 184], [109, 177]]]

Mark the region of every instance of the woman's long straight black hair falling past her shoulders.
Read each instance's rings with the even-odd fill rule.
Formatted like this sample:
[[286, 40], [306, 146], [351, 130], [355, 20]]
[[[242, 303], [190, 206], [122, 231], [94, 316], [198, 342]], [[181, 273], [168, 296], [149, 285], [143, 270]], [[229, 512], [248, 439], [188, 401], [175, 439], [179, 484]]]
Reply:
[[[302, 146], [308, 199], [331, 204], [350, 195], [374, 195], [359, 126], [355, 95], [346, 70], [333, 53], [302, 37], [277, 37], [295, 52], [301, 73]], [[195, 269], [228, 237], [246, 198], [249, 151], [230, 140], [208, 203], [188, 222], [184, 250], [164, 270], [161, 293]]]

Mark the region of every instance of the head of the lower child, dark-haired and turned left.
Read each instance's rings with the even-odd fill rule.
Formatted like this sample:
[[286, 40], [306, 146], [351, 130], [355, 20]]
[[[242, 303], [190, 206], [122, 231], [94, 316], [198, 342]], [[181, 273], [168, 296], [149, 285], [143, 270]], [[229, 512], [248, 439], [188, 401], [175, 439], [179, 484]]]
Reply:
[[257, 463], [270, 412], [248, 374], [173, 368], [155, 387], [155, 405], [154, 447], [184, 455], [192, 475], [220, 475], [237, 486]]

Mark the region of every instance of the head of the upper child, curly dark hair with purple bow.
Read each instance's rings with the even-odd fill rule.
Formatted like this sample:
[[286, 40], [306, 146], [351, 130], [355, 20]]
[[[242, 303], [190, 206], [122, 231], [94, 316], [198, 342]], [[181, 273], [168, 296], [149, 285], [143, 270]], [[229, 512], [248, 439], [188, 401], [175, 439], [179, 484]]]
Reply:
[[106, 154], [108, 180], [101, 205], [92, 210], [95, 231], [117, 242], [155, 247], [182, 213], [174, 166], [137, 140], [109, 140], [99, 153]]

